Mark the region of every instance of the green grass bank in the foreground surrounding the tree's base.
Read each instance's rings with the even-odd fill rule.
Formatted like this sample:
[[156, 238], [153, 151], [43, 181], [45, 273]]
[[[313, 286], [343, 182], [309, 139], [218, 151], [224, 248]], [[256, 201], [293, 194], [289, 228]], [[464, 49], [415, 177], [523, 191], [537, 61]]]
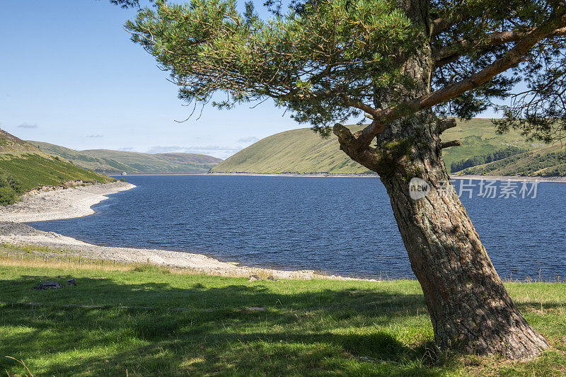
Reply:
[[[33, 290], [40, 281], [71, 277], [77, 286]], [[10, 376], [543, 376], [566, 370], [566, 286], [560, 283], [507, 284], [526, 318], [556, 347], [526, 363], [434, 352], [422, 292], [408, 280], [248, 282], [153, 266], [1, 257], [0, 284], [0, 369]]]

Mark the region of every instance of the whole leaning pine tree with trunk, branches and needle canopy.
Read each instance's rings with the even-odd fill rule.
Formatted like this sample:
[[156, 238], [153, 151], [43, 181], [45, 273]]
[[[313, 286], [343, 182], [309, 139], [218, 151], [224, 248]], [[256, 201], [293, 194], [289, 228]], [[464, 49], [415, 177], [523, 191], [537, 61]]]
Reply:
[[[441, 151], [459, 144], [441, 134], [456, 125], [447, 116], [468, 119], [492, 106], [504, 112], [501, 132], [563, 137], [565, 4], [307, 0], [274, 13], [262, 20], [251, 3], [238, 13], [234, 0], [156, 1], [126, 28], [183, 100], [229, 109], [272, 98], [379, 173], [438, 347], [510, 359], [548, 349], [504, 289], [454, 188], [441, 190], [450, 180]], [[526, 90], [514, 93], [521, 80]], [[341, 124], [363, 115], [371, 124], [362, 131]], [[412, 178], [432, 187], [426, 197], [411, 199]]]

